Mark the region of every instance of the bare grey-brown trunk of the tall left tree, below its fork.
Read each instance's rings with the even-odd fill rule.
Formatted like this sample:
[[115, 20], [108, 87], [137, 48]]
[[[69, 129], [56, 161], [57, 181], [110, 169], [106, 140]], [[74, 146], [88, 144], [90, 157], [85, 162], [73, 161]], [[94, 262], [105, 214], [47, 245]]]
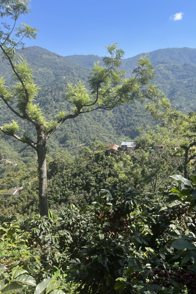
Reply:
[[39, 204], [40, 215], [49, 216], [47, 197], [47, 168], [46, 168], [46, 142], [37, 146], [38, 172], [39, 172]]

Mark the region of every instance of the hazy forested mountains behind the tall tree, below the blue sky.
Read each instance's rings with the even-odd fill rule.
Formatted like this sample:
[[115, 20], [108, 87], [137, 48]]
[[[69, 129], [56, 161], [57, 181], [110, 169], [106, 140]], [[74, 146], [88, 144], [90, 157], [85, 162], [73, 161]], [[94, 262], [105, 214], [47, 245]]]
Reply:
[[[101, 57], [96, 55], [63, 57], [36, 46], [19, 50], [19, 54], [23, 54], [27, 58], [34, 71], [35, 83], [40, 86], [37, 101], [49, 120], [52, 120], [59, 111], [69, 111], [70, 109], [70, 103], [63, 99], [67, 83], [76, 83], [81, 80], [88, 85], [88, 75], [94, 62], [99, 59], [102, 65]], [[155, 82], [159, 89], [165, 92], [172, 100], [173, 105], [181, 111], [195, 110], [196, 49], [159, 49], [149, 52], [149, 55], [157, 74]], [[140, 56], [141, 54], [123, 60], [122, 67], [128, 75], [132, 72], [135, 62]], [[12, 85], [10, 68], [1, 59], [0, 76], [6, 79], [8, 87]], [[0, 109], [0, 115], [2, 115], [1, 124], [16, 119], [4, 106]], [[120, 144], [121, 140], [126, 140], [126, 138], [133, 140], [137, 136], [138, 126], [146, 128], [147, 125], [155, 124], [139, 102], [134, 105], [120, 106], [109, 112], [97, 111], [81, 115], [64, 123], [50, 138], [48, 154], [53, 156], [56, 151], [62, 149], [76, 154], [81, 147], [88, 146], [95, 140], [106, 142], [108, 145]], [[34, 130], [26, 122], [21, 123], [21, 129], [27, 129], [31, 137], [35, 135]], [[12, 138], [7, 137], [4, 140], [6, 146], [11, 145], [10, 150], [16, 152], [13, 152], [12, 160], [16, 158], [18, 153], [17, 159], [20, 158], [24, 162], [36, 161], [36, 155], [30, 147], [24, 146]], [[1, 156], [7, 156], [6, 152], [6, 149], [1, 149]], [[9, 156], [11, 156], [10, 152]]]

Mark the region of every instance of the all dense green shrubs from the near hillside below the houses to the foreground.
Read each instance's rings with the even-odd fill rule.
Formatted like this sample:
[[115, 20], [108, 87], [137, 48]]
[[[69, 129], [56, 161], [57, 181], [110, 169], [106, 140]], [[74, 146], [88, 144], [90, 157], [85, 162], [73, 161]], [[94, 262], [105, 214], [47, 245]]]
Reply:
[[[36, 164], [1, 161], [2, 293], [196, 291], [195, 165], [183, 178], [183, 153], [141, 134], [135, 152], [108, 156], [97, 141], [48, 157], [49, 219]], [[24, 190], [5, 196], [13, 186]]]

